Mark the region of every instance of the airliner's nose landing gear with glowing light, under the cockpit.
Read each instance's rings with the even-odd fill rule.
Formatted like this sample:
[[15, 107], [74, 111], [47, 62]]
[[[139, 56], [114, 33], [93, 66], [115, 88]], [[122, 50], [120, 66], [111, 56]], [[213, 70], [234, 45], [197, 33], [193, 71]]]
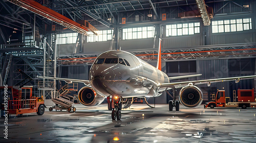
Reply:
[[114, 107], [112, 110], [112, 114], [111, 114], [112, 120], [116, 120], [116, 119], [120, 120], [121, 119], [121, 116], [122, 116], [122, 114], [121, 114], [121, 109], [122, 109], [121, 99], [122, 98], [119, 96], [113, 96], [112, 100], [111, 100], [112, 106], [110, 104], [108, 104], [109, 110]]

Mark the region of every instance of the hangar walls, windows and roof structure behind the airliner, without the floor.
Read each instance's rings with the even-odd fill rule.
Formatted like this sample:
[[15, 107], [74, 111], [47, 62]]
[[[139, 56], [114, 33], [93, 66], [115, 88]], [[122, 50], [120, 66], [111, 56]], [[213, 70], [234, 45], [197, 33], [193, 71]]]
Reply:
[[[252, 0], [205, 0], [208, 17], [200, 14], [195, 0], [35, 1], [60, 14], [58, 18], [26, 2], [0, 2], [1, 86], [22, 80], [16, 70], [20, 68], [35, 79], [29, 83], [35, 87], [33, 94], [51, 99], [54, 85], [60, 89], [65, 83], [37, 76], [88, 80], [95, 58], [118, 49], [156, 66], [159, 38], [162, 70], [169, 77], [202, 74], [173, 81], [255, 75], [256, 2]], [[65, 18], [72, 24], [63, 23]], [[87, 31], [74, 22], [86, 25]], [[208, 102], [218, 89], [231, 98], [233, 90], [254, 89], [254, 83], [251, 79], [199, 87]], [[169, 100], [163, 93], [155, 103]]]

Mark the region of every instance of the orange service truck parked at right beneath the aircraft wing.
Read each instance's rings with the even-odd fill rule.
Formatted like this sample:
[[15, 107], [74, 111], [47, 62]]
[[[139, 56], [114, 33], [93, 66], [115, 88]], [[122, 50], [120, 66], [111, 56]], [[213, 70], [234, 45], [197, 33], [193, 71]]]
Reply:
[[[234, 90], [236, 91], [236, 90]], [[242, 108], [255, 108], [256, 98], [254, 97], [254, 89], [238, 89], [238, 95], [233, 92], [233, 102], [230, 102], [230, 97], [225, 97], [225, 90], [218, 90], [216, 93], [215, 101], [205, 103], [204, 108], [210, 107], [242, 107]]]

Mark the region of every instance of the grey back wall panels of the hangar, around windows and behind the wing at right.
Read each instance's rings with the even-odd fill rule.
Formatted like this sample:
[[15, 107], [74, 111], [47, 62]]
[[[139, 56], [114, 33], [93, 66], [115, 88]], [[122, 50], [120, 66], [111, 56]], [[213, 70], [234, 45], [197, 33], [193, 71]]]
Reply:
[[[254, 4], [255, 5], [255, 4]], [[254, 6], [255, 7], [255, 6]], [[200, 22], [200, 33], [193, 34], [193, 35], [182, 35], [182, 36], [165, 36], [165, 26], [170, 25], [173, 23], [189, 23], [189, 22], [195, 22], [195, 21], [201, 21], [201, 18], [187, 18], [187, 19], [177, 19], [170, 20], [170, 21], [163, 21], [162, 24], [159, 23], [152, 23], [144, 25], [144, 26], [154, 26], [156, 28], [156, 32], [160, 32], [160, 34], [156, 34], [156, 38], [145, 38], [145, 39], [130, 39], [130, 40], [123, 40], [122, 39], [122, 26], [119, 26], [118, 32], [119, 38], [118, 38], [118, 47], [115, 46], [112, 43], [113, 41], [101, 41], [101, 42], [87, 42], [87, 38], [84, 40], [85, 42], [82, 45], [82, 53], [83, 54], [91, 54], [91, 53], [101, 53], [108, 50], [111, 50], [111, 44], [113, 44], [112, 49], [117, 49], [121, 47], [122, 50], [148, 50], [153, 49], [154, 44], [156, 44], [157, 37], [162, 38], [162, 48], [164, 49], [179, 49], [184, 47], [196, 47], [201, 45], [221, 45], [221, 44], [236, 44], [236, 43], [252, 43], [256, 42], [256, 31], [255, 31], [255, 15], [253, 13], [244, 13], [244, 14], [231, 14], [231, 15], [224, 15], [224, 14], [217, 14], [214, 16], [214, 19], [211, 19], [211, 21], [218, 21], [218, 20], [226, 20], [230, 19], [236, 19], [241, 18], [244, 15], [244, 17], [249, 17], [252, 19], [252, 29], [246, 30], [246, 31], [239, 31], [239, 32], [223, 32], [223, 33], [212, 33], [212, 25], [205, 27], [203, 26], [203, 23]], [[131, 26], [127, 23], [125, 25], [126, 27], [141, 27], [141, 23], [138, 23], [138, 25], [132, 23]], [[102, 30], [109, 30], [109, 29], [102, 29]], [[74, 49], [74, 44], [69, 45], [60, 45], [59, 46], [59, 53], [60, 54], [68, 54], [72, 53]], [[157, 46], [156, 46], [157, 47]], [[81, 53], [81, 54], [82, 54]], [[255, 59], [251, 59], [255, 62]], [[162, 66], [166, 71], [166, 63], [172, 62], [172, 61], [162, 61]], [[185, 80], [202, 80], [202, 79], [212, 79], [212, 78], [225, 78], [230, 76], [247, 76], [252, 75], [255, 73], [255, 69], [251, 69], [250, 72], [243, 72], [240, 69], [240, 72], [237, 74], [233, 74], [233, 71], [230, 71], [229, 67], [229, 59], [217, 59], [217, 60], [197, 60], [197, 72], [196, 73], [167, 73], [169, 76], [182, 76], [182, 75], [189, 75], [189, 74], [202, 74], [201, 77], [196, 78], [189, 78]], [[155, 62], [151, 62], [151, 64], [155, 64]], [[69, 68], [69, 74], [68, 78], [88, 78], [88, 67], [90, 65], [82, 65], [81, 67], [76, 66], [70, 66]], [[255, 67], [255, 66], [254, 66]], [[77, 69], [79, 68], [79, 69]], [[84, 69], [84, 73], [80, 73], [80, 71], [72, 71], [72, 70], [81, 70]], [[173, 81], [175, 82], [175, 81]], [[83, 85], [79, 85], [83, 86]], [[234, 89], [242, 89], [242, 88], [255, 88], [254, 81], [253, 80], [244, 80], [240, 81], [239, 84], [234, 84], [234, 82], [223, 82], [223, 83], [211, 83], [210, 87], [207, 87], [207, 85], [199, 85], [204, 93], [204, 100], [208, 101], [210, 100], [210, 94], [215, 94], [217, 89], [224, 89], [226, 90], [227, 96], [232, 96], [232, 90]], [[179, 90], [179, 89], [178, 89]], [[229, 94], [228, 94], [229, 93]], [[166, 93], [164, 92], [162, 96], [156, 98], [156, 103], [167, 103], [169, 100], [169, 96], [166, 96]], [[232, 98], [231, 98], [232, 99]], [[154, 103], [153, 99], [149, 100], [150, 103]]]

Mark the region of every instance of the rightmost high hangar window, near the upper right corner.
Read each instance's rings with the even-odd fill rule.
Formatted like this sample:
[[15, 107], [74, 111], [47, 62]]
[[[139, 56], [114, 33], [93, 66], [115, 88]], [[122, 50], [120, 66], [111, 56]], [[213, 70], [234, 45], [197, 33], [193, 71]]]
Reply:
[[212, 21], [212, 33], [250, 30], [251, 18]]

